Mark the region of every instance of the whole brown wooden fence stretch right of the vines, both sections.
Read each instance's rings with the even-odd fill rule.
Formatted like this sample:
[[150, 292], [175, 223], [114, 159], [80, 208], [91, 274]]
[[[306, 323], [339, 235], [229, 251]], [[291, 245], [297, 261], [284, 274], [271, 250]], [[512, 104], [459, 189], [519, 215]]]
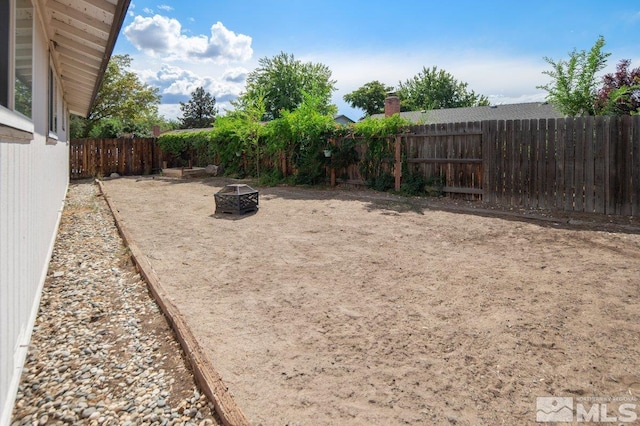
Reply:
[[441, 176], [450, 194], [640, 215], [640, 116], [414, 126], [397, 140], [409, 171]]

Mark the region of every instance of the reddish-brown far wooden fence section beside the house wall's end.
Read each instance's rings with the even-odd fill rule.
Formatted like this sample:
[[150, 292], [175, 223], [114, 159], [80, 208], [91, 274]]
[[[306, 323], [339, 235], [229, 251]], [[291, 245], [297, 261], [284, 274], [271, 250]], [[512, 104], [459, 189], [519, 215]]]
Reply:
[[73, 139], [69, 148], [71, 179], [147, 175], [161, 169], [162, 151], [155, 138]]

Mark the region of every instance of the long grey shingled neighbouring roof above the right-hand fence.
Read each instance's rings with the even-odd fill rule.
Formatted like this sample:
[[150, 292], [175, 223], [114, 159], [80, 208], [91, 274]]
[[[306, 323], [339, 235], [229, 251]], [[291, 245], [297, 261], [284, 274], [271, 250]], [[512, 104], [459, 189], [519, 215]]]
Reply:
[[[547, 102], [528, 102], [466, 108], [443, 108], [429, 111], [401, 112], [400, 116], [415, 124], [459, 123], [484, 120], [525, 120], [539, 118], [563, 118]], [[384, 114], [374, 114], [372, 118], [383, 118]]]

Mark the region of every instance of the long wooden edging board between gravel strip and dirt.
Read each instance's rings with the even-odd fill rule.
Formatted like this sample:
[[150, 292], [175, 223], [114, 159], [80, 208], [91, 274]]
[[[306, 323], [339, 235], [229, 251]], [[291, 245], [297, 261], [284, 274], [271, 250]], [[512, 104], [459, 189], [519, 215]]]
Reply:
[[191, 365], [193, 375], [200, 390], [213, 402], [216, 412], [225, 426], [248, 426], [249, 421], [236, 404], [229, 388], [227, 388], [222, 381], [220, 374], [213, 368], [213, 364], [204, 353], [204, 350], [191, 332], [191, 329], [187, 326], [184, 317], [180, 314], [178, 308], [168, 300], [149, 260], [133, 241], [129, 231], [122, 225], [122, 217], [118, 209], [116, 209], [109, 200], [102, 182], [99, 180], [96, 180], [96, 182], [113, 214], [120, 236], [131, 252], [131, 258], [134, 264], [140, 272], [140, 275], [145, 279], [153, 298], [156, 300], [156, 303], [158, 303], [160, 309], [162, 309], [173, 331], [176, 333], [182, 350]]

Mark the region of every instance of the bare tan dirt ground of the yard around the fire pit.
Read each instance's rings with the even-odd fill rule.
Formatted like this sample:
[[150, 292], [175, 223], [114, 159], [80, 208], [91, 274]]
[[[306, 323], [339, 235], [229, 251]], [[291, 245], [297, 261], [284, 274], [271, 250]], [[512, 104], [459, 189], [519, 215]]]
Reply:
[[252, 424], [535, 424], [539, 396], [640, 415], [637, 221], [290, 187], [214, 215], [225, 183], [105, 188]]

